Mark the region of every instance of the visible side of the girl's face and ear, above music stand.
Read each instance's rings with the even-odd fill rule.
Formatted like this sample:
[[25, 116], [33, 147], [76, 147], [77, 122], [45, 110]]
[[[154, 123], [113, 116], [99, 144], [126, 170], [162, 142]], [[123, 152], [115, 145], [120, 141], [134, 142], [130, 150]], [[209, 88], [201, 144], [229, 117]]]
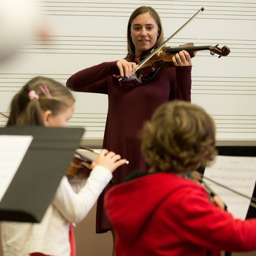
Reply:
[[44, 125], [48, 127], [67, 127], [68, 120], [74, 113], [75, 104], [66, 108], [64, 111], [59, 112], [55, 116], [52, 115], [50, 110], [43, 113]]

